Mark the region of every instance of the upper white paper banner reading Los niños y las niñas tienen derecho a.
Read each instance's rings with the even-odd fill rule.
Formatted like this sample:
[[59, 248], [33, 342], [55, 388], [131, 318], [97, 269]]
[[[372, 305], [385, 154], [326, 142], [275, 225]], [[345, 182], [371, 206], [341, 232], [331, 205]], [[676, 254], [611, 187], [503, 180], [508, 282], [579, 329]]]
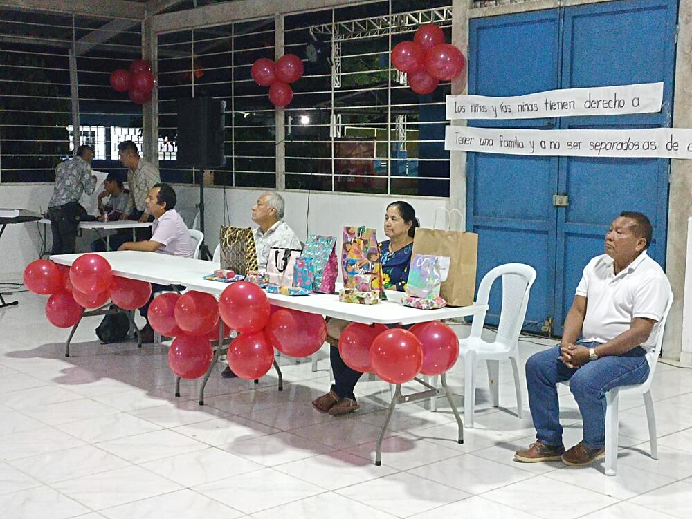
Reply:
[[514, 97], [448, 95], [447, 119], [537, 119], [661, 111], [663, 83], [565, 88]]

